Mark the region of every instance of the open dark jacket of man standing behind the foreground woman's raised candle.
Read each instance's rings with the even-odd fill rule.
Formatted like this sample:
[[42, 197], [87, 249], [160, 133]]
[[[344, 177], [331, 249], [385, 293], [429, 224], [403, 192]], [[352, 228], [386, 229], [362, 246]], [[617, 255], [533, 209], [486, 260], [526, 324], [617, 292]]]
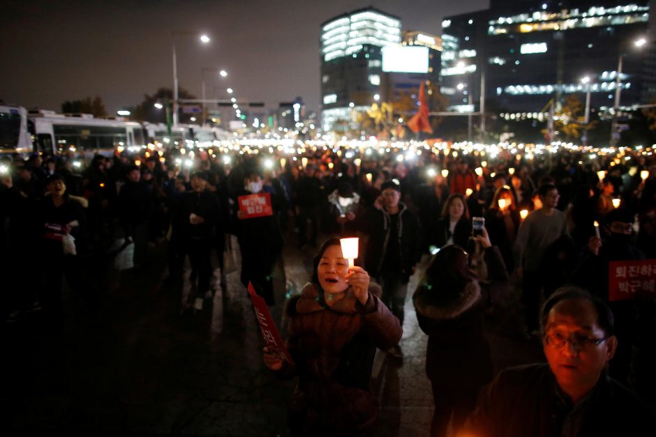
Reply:
[[366, 229], [369, 240], [366, 247], [365, 270], [372, 277], [382, 273], [382, 263], [385, 260], [387, 245], [390, 238], [398, 239], [401, 251], [401, 271], [404, 280], [412, 275], [412, 267], [422, 257], [422, 229], [419, 219], [403, 203], [398, 204], [398, 235], [391, 235], [390, 215], [385, 208], [378, 210], [372, 208], [366, 220]]

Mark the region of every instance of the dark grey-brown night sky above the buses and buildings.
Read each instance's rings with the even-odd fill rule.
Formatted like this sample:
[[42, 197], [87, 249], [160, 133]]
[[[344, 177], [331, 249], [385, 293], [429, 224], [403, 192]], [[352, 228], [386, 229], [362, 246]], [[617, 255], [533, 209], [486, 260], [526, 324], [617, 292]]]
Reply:
[[[320, 107], [320, 24], [374, 6], [401, 17], [403, 30], [440, 34], [442, 17], [487, 8], [488, 0], [2, 0], [0, 100], [59, 112], [65, 100], [99, 95], [107, 112], [172, 87], [171, 30], [178, 36], [181, 87], [200, 98], [263, 101], [301, 96]], [[218, 69], [229, 76], [218, 78]], [[221, 90], [218, 89], [221, 86]]]

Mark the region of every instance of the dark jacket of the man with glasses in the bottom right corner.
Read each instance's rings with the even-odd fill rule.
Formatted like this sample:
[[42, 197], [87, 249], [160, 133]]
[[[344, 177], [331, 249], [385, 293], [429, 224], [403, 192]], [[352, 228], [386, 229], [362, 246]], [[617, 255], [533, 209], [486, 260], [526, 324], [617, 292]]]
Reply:
[[[593, 389], [588, 408], [577, 437], [654, 433], [648, 410], [605, 374]], [[562, 435], [570, 411], [571, 401], [560, 394], [549, 365], [512, 367], [481, 391], [465, 429], [479, 437], [556, 437]]]

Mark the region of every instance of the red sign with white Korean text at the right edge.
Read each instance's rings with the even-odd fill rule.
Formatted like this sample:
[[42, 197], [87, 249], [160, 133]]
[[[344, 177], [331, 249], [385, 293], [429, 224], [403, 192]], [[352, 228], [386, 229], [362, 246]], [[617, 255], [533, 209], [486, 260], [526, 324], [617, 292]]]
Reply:
[[611, 302], [656, 297], [656, 259], [611, 261], [608, 293]]

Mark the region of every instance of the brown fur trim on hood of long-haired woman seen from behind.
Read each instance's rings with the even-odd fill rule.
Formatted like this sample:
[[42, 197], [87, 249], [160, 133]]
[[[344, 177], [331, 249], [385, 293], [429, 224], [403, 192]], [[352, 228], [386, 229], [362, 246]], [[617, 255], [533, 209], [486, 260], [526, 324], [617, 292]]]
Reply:
[[427, 284], [424, 281], [412, 295], [417, 312], [435, 320], [456, 319], [474, 307], [480, 299], [481, 286], [475, 280], [465, 284], [457, 293], [440, 290], [438, 284]]

